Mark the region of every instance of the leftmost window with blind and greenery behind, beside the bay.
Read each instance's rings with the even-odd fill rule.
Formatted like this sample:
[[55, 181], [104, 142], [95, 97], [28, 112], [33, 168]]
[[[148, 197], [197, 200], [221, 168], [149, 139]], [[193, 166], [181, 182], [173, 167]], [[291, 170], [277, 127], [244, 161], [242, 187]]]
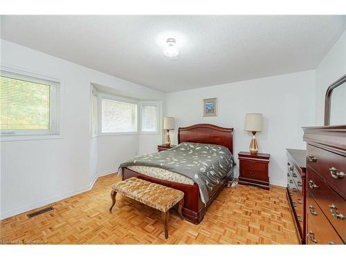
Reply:
[[57, 135], [57, 82], [1, 71], [1, 137]]

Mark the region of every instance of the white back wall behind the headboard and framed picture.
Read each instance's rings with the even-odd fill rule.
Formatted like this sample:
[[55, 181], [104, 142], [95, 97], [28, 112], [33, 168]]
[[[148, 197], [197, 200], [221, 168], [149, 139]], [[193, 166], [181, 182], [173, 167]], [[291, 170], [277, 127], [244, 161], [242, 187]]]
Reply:
[[[305, 148], [302, 126], [314, 118], [315, 72], [265, 77], [233, 84], [185, 90], [165, 95], [165, 116], [176, 119], [176, 128], [210, 123], [234, 128], [234, 154], [248, 151], [251, 133], [244, 131], [246, 113], [264, 115], [264, 130], [257, 133], [261, 153], [271, 153], [269, 177], [272, 184], [286, 186], [285, 148]], [[218, 98], [217, 117], [202, 116], [202, 99]], [[172, 131], [176, 143], [177, 130]], [[238, 167], [235, 169], [239, 173]]]

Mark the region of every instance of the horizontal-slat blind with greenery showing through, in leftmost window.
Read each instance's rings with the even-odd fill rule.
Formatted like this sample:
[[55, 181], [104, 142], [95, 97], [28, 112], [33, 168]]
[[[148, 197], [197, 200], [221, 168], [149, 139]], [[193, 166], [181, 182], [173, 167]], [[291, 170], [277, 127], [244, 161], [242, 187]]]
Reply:
[[0, 129], [48, 130], [50, 86], [0, 77]]

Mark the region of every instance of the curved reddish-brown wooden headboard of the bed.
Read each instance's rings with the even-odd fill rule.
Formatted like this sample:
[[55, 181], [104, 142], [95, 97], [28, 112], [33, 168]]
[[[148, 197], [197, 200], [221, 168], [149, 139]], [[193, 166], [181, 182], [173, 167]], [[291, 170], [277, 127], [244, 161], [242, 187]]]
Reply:
[[222, 128], [212, 124], [196, 124], [179, 128], [178, 144], [194, 142], [226, 146], [233, 153], [233, 128]]

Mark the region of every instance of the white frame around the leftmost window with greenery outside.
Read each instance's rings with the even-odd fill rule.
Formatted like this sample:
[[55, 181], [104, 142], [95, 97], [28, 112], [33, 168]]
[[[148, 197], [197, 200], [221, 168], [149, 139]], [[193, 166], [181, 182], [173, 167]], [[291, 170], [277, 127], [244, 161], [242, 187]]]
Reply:
[[17, 68], [0, 66], [1, 76], [50, 86], [48, 130], [0, 130], [1, 142], [62, 138], [62, 98], [60, 80]]

